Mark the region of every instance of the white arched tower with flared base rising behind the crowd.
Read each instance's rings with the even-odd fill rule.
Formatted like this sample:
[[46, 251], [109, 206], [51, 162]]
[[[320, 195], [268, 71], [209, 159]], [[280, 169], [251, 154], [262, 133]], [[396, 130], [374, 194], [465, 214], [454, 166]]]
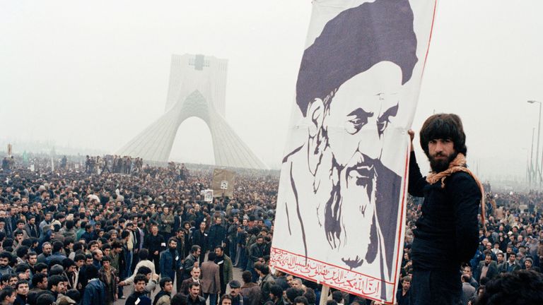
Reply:
[[173, 55], [165, 112], [117, 155], [168, 162], [177, 128], [197, 116], [211, 131], [215, 163], [224, 167], [267, 169], [225, 119], [228, 61], [204, 55]]

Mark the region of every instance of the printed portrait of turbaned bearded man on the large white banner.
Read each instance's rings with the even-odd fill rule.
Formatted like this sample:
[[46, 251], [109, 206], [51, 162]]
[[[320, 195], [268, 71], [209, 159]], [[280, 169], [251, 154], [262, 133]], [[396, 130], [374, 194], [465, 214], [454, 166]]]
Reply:
[[296, 84], [305, 137], [283, 160], [276, 228], [288, 236], [274, 246], [313, 259], [327, 249], [320, 261], [394, 276], [402, 173], [381, 159], [405, 136], [394, 125], [399, 109], [413, 107], [400, 99], [418, 61], [413, 20], [409, 1], [364, 3], [305, 49]]

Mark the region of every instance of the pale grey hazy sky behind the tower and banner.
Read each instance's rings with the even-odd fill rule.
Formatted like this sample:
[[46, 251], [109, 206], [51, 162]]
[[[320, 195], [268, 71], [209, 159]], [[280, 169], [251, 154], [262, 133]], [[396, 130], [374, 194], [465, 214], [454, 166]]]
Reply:
[[[277, 168], [311, 7], [1, 0], [0, 141], [115, 152], [163, 113], [170, 56], [206, 54], [228, 59], [227, 121]], [[433, 112], [459, 114], [481, 179], [525, 175], [539, 111], [526, 101], [543, 102], [542, 11], [537, 0], [438, 6], [413, 127]], [[203, 121], [180, 126], [170, 159], [214, 162]]]

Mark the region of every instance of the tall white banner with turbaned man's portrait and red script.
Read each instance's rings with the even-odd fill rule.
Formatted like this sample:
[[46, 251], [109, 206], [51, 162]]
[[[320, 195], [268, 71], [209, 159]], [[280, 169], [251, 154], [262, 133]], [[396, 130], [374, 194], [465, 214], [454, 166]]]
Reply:
[[270, 263], [392, 303], [435, 0], [313, 1]]

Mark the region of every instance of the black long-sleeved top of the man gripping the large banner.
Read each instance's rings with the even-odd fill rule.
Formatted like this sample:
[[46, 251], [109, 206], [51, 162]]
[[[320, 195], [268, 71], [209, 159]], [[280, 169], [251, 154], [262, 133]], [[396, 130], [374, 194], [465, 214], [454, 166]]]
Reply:
[[409, 193], [424, 196], [422, 215], [416, 221], [411, 246], [413, 267], [424, 270], [458, 270], [477, 251], [477, 215], [481, 201], [479, 186], [469, 174], [456, 172], [429, 184], [416, 164], [409, 160]]

